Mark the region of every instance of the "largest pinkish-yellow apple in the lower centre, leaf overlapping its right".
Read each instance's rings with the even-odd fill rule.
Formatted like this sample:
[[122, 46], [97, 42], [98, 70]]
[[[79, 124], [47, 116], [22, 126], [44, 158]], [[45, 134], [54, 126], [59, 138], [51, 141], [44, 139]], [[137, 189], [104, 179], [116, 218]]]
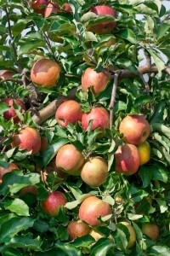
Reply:
[[99, 217], [105, 217], [112, 214], [110, 204], [92, 195], [82, 201], [78, 216], [92, 227], [102, 225]]

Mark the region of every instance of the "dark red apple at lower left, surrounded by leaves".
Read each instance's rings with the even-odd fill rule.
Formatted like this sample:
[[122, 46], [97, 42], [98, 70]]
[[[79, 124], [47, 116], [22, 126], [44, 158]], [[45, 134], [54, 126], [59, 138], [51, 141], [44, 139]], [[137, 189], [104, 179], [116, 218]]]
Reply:
[[62, 192], [50, 192], [48, 197], [41, 201], [42, 211], [51, 217], [57, 217], [60, 207], [64, 207], [66, 202], [67, 199]]

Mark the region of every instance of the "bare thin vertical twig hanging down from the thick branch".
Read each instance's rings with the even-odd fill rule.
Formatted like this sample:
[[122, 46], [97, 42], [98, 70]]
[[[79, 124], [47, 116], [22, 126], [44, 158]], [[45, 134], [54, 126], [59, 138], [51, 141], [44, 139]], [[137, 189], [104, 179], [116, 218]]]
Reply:
[[117, 82], [119, 75], [121, 73], [121, 70], [119, 70], [115, 75], [114, 75], [114, 82], [113, 82], [113, 88], [111, 91], [111, 102], [109, 105], [110, 108], [110, 129], [113, 125], [113, 115], [114, 115], [114, 105], [115, 105], [115, 99], [116, 99], [116, 88], [117, 88]]

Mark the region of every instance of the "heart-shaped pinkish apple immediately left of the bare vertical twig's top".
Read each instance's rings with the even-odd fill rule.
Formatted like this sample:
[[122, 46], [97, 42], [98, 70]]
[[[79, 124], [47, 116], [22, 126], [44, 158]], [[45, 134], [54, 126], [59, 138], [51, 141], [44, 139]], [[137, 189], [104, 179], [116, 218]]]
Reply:
[[103, 70], [97, 73], [94, 67], [88, 67], [82, 73], [82, 89], [88, 91], [88, 87], [93, 85], [92, 91], [94, 96], [98, 96], [99, 92], [104, 90], [108, 82], [111, 80], [111, 74]]

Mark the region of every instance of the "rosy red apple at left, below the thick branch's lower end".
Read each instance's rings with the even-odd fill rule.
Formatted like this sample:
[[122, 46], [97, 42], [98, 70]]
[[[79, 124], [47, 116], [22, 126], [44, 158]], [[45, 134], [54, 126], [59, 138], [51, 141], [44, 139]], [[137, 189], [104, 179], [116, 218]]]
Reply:
[[14, 134], [12, 147], [27, 149], [31, 154], [37, 154], [41, 148], [41, 137], [39, 132], [30, 126], [26, 126], [20, 130], [18, 134]]

